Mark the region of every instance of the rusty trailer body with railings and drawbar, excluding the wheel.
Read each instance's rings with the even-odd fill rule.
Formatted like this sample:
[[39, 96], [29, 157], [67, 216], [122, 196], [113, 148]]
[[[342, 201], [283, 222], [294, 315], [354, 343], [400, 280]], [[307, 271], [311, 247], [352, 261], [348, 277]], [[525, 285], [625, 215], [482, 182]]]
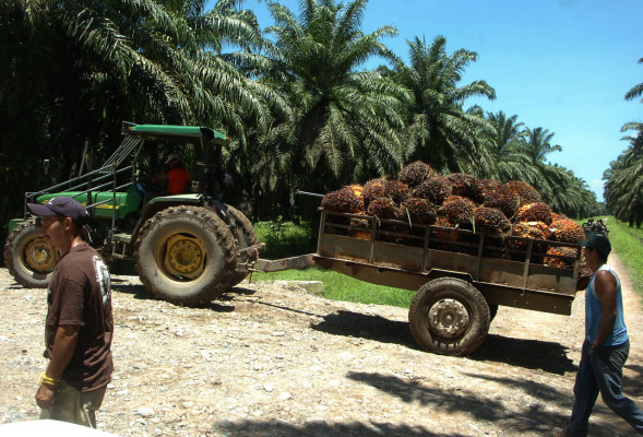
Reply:
[[[569, 247], [575, 256], [547, 253]], [[546, 265], [560, 259], [569, 268]], [[260, 260], [257, 270], [318, 265], [360, 281], [417, 291], [450, 276], [472, 283], [490, 305], [571, 315], [581, 270], [575, 244], [321, 211], [315, 253]]]

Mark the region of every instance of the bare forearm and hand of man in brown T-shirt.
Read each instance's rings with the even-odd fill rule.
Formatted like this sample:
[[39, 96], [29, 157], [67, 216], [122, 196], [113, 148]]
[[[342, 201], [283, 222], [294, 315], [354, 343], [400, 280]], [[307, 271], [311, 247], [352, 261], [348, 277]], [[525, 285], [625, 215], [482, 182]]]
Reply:
[[[56, 339], [53, 340], [53, 351], [51, 358], [47, 366], [46, 375], [52, 379], [60, 379], [60, 375], [71, 361], [79, 341], [78, 326], [58, 327], [56, 331]], [[53, 408], [53, 394], [56, 388], [47, 383], [41, 383], [36, 392], [36, 403], [43, 410], [51, 410]]]

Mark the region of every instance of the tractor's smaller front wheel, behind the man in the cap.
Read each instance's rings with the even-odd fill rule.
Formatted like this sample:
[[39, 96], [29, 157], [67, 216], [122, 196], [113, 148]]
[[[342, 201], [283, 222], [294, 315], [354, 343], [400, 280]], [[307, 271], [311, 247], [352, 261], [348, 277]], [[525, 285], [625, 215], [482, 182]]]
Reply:
[[34, 221], [20, 223], [4, 244], [4, 263], [15, 281], [29, 288], [46, 288], [58, 262], [58, 250]]

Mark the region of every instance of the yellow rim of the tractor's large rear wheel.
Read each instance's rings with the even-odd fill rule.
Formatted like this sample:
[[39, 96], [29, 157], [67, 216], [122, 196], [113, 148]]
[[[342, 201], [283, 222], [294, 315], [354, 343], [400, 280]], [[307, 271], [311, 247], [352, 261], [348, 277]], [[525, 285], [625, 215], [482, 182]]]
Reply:
[[203, 272], [207, 252], [201, 239], [190, 234], [174, 234], [163, 246], [163, 265], [169, 274], [193, 280]]

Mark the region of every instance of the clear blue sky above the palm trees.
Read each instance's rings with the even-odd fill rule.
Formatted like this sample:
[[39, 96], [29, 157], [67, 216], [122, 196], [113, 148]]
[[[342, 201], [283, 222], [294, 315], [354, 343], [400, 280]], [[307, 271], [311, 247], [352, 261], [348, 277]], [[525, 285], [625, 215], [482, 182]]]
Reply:
[[[294, 13], [299, 0], [278, 0]], [[265, 2], [247, 0], [262, 28], [273, 24]], [[484, 80], [496, 101], [472, 99], [486, 111], [517, 115], [525, 127], [553, 132], [562, 152], [548, 156], [585, 180], [603, 201], [603, 173], [628, 146], [620, 131], [643, 122], [643, 0], [370, 0], [362, 31], [397, 28], [382, 39], [408, 61], [407, 40], [446, 38], [446, 52], [478, 54], [459, 86]], [[366, 68], [373, 68], [373, 60]]]

